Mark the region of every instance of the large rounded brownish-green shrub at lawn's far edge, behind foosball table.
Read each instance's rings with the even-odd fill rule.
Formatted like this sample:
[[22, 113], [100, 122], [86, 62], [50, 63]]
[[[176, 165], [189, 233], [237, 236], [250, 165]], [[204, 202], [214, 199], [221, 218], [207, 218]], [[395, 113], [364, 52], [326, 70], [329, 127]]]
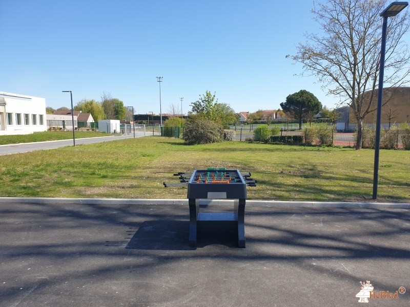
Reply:
[[183, 140], [190, 145], [221, 142], [222, 138], [222, 126], [201, 117], [189, 119], [183, 131]]

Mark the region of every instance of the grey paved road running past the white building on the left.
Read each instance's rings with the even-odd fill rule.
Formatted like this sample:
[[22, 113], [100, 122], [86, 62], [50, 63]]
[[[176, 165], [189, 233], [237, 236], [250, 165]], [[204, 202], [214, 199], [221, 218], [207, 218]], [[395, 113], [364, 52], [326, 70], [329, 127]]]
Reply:
[[[148, 136], [149, 134], [147, 134]], [[108, 142], [114, 140], [122, 140], [133, 138], [131, 135], [121, 135], [121, 136], [107, 136], [98, 138], [86, 138], [86, 139], [76, 139], [75, 145], [92, 144], [100, 142]], [[136, 135], [136, 138], [143, 137], [143, 135]], [[10, 144], [10, 145], [0, 145], [0, 156], [1, 155], [11, 155], [12, 153], [20, 153], [35, 150], [44, 149], [54, 149], [59, 147], [73, 146], [73, 140], [60, 140], [60, 141], [47, 141], [47, 142], [36, 142], [36, 143], [22, 143], [22, 144]]]

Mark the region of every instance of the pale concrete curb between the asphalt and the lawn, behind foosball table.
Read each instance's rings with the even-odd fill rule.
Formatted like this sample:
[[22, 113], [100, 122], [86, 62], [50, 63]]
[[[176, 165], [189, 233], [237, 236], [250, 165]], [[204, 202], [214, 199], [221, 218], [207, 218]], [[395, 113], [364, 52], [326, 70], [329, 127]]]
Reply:
[[[234, 200], [200, 200], [201, 205], [228, 205]], [[0, 203], [32, 204], [106, 204], [106, 205], [187, 205], [187, 199], [91, 199], [91, 198], [18, 198], [0, 197]], [[310, 207], [310, 208], [392, 208], [410, 209], [410, 203], [359, 203], [359, 202], [295, 202], [248, 200], [248, 206]]]

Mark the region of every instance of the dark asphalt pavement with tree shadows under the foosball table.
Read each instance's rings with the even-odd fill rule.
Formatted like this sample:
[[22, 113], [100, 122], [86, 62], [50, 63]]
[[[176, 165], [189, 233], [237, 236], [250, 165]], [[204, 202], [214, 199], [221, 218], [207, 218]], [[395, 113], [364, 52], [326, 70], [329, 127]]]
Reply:
[[0, 306], [408, 306], [409, 205], [249, 201], [191, 248], [186, 200], [2, 198]]

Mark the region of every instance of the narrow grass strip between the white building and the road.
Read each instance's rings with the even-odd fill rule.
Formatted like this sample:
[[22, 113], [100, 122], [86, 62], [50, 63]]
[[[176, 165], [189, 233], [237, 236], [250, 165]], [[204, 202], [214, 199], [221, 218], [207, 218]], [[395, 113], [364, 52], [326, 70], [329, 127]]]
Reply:
[[[105, 137], [109, 134], [97, 131], [75, 131], [75, 138], [95, 138]], [[0, 145], [30, 143], [30, 142], [44, 142], [57, 140], [70, 140], [73, 138], [73, 131], [44, 131], [35, 132], [29, 135], [15, 135], [15, 136], [0, 136]]]

